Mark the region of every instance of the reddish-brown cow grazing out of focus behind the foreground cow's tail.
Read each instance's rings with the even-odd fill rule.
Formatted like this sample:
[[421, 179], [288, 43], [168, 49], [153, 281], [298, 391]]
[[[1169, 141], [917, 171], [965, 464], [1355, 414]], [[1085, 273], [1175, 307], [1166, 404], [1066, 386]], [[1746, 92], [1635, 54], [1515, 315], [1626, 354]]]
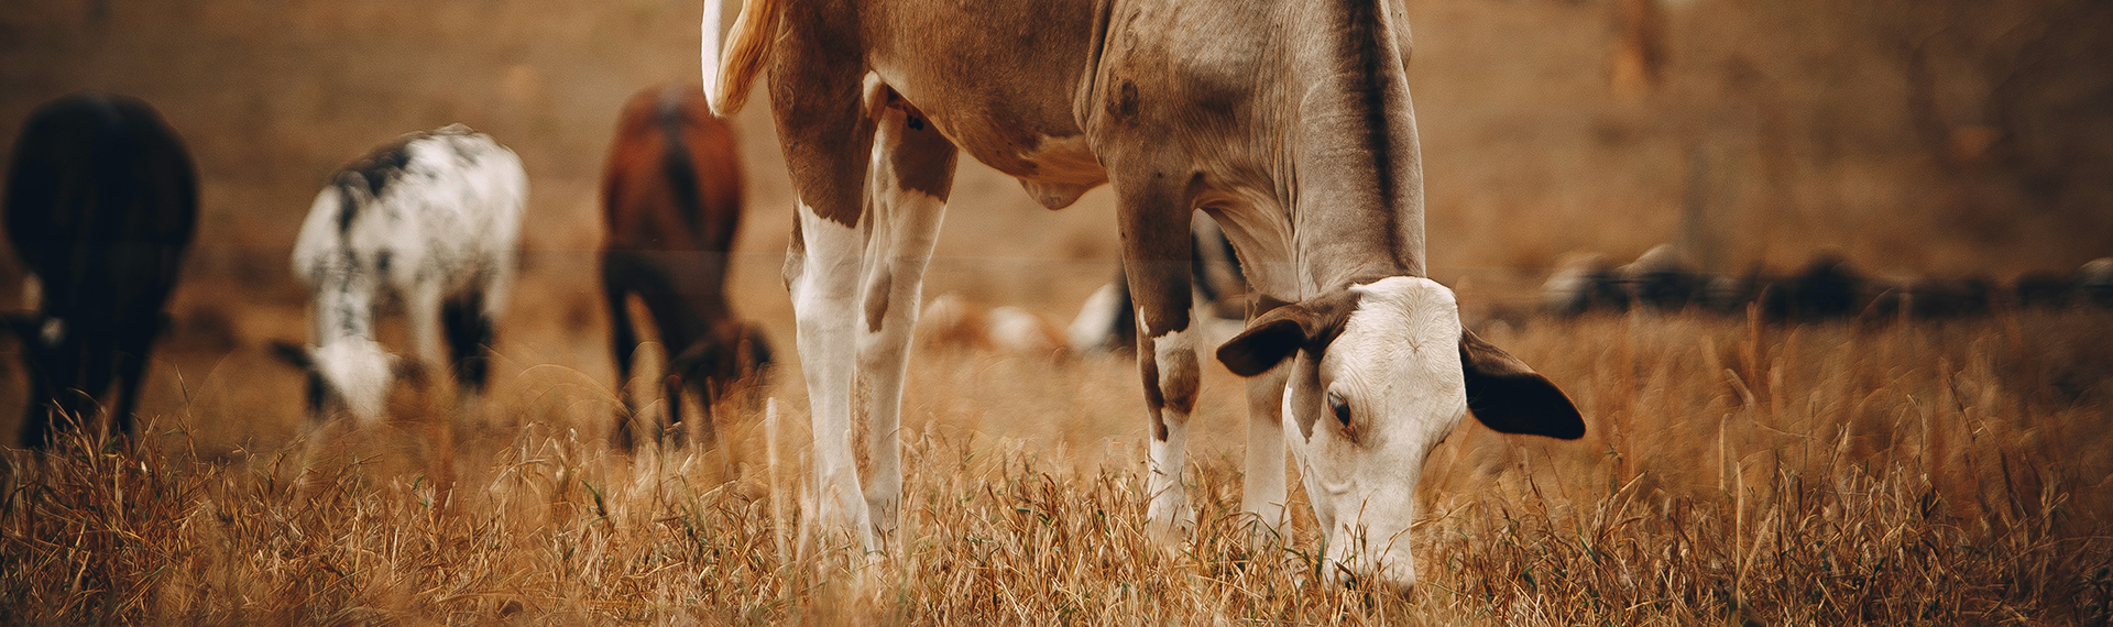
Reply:
[[[685, 384], [710, 407], [769, 363], [769, 344], [727, 306], [727, 251], [742, 224], [742, 167], [733, 129], [712, 116], [695, 84], [640, 91], [623, 106], [602, 173], [602, 291], [609, 298], [617, 388], [632, 378], [638, 334], [630, 296], [644, 304], [663, 363], [668, 429], [682, 422]], [[630, 393], [623, 393], [632, 410]], [[636, 414], [636, 412], [625, 412]], [[615, 441], [632, 448], [632, 420]], [[712, 441], [712, 429], [697, 429]], [[659, 439], [661, 429], [649, 429]]]

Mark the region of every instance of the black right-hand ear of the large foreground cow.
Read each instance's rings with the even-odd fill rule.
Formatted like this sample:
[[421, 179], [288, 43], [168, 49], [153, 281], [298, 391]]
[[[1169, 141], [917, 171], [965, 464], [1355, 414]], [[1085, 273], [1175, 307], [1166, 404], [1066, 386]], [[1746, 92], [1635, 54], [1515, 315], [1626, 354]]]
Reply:
[[1585, 416], [1564, 391], [1523, 361], [1460, 329], [1466, 407], [1496, 433], [1585, 437]]

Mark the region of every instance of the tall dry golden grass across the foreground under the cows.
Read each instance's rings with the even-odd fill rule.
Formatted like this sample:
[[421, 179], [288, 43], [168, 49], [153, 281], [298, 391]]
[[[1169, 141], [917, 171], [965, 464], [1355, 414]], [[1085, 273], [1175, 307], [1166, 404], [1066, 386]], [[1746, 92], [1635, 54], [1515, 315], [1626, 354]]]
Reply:
[[[911, 380], [906, 519], [885, 553], [801, 524], [794, 403], [775, 429], [729, 424], [729, 452], [625, 458], [581, 426], [602, 420], [585, 414], [606, 405], [581, 399], [596, 393], [566, 388], [522, 393], [535, 401], [501, 414], [524, 422], [465, 439], [452, 486], [399, 443], [418, 418], [334, 441], [306, 471], [292, 452], [199, 456], [169, 418], [131, 441], [13, 452], [0, 604], [21, 623], [2113, 616], [2102, 315], [1876, 329], [1608, 317], [1490, 338], [1568, 386], [1591, 433], [1462, 426], [1424, 475], [1424, 583], [1407, 597], [1325, 583], [1304, 505], [1285, 536], [1251, 545], [1232, 407], [1198, 418], [1213, 435], [1190, 475], [1196, 536], [1158, 547], [1137, 441], [1080, 462], [1090, 443], [1063, 435], [1141, 437], [1135, 399], [1092, 395], [1135, 386], [1126, 363], [932, 353]], [[1219, 397], [1236, 386], [1207, 378]]]

